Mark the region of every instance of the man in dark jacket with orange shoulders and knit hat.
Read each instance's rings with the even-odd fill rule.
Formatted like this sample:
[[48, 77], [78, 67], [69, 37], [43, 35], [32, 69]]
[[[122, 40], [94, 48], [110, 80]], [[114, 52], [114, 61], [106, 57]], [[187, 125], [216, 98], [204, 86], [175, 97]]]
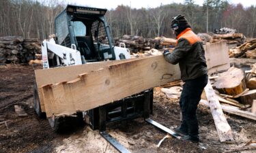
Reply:
[[175, 131], [184, 135], [182, 138], [185, 140], [199, 142], [196, 111], [203, 88], [208, 82], [205, 51], [201, 39], [193, 33], [184, 15], [172, 18], [171, 29], [177, 37], [177, 46], [173, 52], [165, 50], [163, 54], [169, 63], [179, 63], [185, 82], [180, 97], [182, 124]]

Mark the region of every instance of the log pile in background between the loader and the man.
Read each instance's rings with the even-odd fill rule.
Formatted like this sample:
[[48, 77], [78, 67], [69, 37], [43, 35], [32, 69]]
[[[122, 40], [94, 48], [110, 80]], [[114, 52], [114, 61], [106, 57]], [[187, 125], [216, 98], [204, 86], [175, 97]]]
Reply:
[[122, 38], [115, 38], [115, 46], [122, 46], [122, 43], [129, 48], [130, 52], [137, 53], [144, 50], [171, 48], [175, 46], [176, 39], [156, 37], [155, 39], [143, 38], [141, 36], [124, 35]]

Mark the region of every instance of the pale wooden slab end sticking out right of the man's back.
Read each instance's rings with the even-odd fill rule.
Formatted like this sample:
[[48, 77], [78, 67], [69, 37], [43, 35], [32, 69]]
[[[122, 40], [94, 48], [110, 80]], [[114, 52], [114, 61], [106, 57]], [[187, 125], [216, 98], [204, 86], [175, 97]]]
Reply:
[[206, 44], [203, 47], [208, 74], [229, 69], [229, 49], [225, 41]]

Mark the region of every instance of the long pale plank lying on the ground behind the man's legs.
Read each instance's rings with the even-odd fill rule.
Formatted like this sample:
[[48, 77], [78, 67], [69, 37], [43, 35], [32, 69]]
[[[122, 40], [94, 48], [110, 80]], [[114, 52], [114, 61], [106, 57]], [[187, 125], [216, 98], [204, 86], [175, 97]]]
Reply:
[[212, 117], [214, 119], [214, 123], [218, 132], [218, 137], [221, 142], [224, 141], [233, 141], [233, 135], [231, 131], [231, 127], [229, 126], [224, 114], [221, 109], [221, 104], [218, 101], [218, 97], [215, 94], [212, 85], [210, 84], [210, 80], [208, 80], [208, 84], [204, 88], [205, 95], [209, 101], [210, 109], [212, 112]]

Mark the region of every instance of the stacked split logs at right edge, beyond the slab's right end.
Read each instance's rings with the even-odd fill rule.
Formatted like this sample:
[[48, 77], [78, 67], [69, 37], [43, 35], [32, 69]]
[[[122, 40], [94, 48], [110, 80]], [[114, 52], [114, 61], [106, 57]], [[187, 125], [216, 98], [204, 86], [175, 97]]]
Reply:
[[256, 58], [256, 39], [252, 39], [236, 48], [231, 48], [229, 57]]

